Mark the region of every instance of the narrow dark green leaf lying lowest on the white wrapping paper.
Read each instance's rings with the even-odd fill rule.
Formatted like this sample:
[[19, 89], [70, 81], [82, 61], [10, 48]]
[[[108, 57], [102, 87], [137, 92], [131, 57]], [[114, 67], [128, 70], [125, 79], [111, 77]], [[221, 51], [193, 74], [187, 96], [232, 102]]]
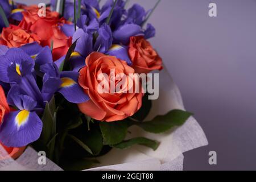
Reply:
[[130, 140], [123, 141], [122, 143], [119, 143], [113, 147], [118, 148], [118, 149], [125, 149], [125, 148], [129, 148], [135, 144], [140, 144], [140, 145], [143, 145], [146, 147], [150, 147], [150, 148], [152, 148], [152, 150], [156, 150], [159, 146], [159, 143], [156, 142], [155, 140], [138, 137], [138, 138], [133, 138]]

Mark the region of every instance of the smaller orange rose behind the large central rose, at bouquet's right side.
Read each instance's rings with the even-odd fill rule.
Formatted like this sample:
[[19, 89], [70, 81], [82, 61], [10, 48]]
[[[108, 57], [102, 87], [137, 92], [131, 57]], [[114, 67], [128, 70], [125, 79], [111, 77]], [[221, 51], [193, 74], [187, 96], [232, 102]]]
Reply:
[[162, 59], [143, 36], [130, 38], [129, 56], [137, 73], [149, 73], [162, 69]]

